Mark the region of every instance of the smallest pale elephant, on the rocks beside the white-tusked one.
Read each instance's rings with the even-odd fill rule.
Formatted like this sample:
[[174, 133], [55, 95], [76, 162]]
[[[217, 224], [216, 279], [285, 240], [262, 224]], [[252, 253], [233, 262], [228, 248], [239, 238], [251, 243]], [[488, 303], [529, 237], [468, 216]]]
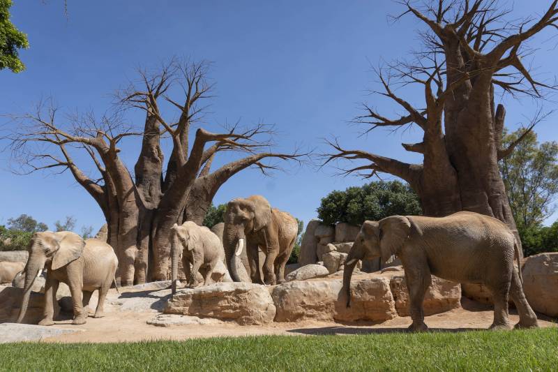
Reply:
[[[197, 285], [196, 274], [199, 271], [204, 276], [204, 285], [212, 282], [211, 274], [225, 256], [223, 244], [217, 235], [209, 228], [199, 226], [195, 222], [186, 221], [182, 225], [176, 223], [171, 228], [171, 258], [172, 258], [172, 293], [176, 293], [176, 278], [179, 270], [179, 258], [182, 255], [184, 274], [188, 280], [188, 287]], [[192, 268], [190, 269], [190, 264]], [[230, 280], [230, 279], [229, 279]]]

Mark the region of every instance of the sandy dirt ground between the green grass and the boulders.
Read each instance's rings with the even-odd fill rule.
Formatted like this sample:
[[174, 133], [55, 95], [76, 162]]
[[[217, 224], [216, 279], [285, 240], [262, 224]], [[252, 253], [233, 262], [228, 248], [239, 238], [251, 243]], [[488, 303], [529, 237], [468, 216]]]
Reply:
[[[492, 323], [492, 311], [467, 299], [464, 308], [428, 316], [426, 324], [433, 330], [459, 332], [467, 329], [486, 329]], [[184, 340], [214, 336], [257, 336], [265, 334], [312, 335], [312, 334], [370, 334], [401, 332], [411, 324], [411, 318], [395, 318], [380, 324], [359, 323], [342, 325], [333, 322], [273, 323], [265, 326], [239, 326], [233, 322], [220, 325], [183, 325], [156, 327], [147, 320], [154, 313], [107, 313], [105, 318], [89, 318], [85, 325], [71, 325], [70, 320], [56, 322], [55, 327], [80, 329], [82, 332], [46, 338], [46, 342], [126, 342], [149, 340]], [[543, 317], [541, 317], [543, 318]], [[511, 322], [518, 322], [518, 315], [511, 315]], [[549, 321], [550, 320], [550, 321]], [[556, 327], [551, 319], [540, 320], [541, 327]]]

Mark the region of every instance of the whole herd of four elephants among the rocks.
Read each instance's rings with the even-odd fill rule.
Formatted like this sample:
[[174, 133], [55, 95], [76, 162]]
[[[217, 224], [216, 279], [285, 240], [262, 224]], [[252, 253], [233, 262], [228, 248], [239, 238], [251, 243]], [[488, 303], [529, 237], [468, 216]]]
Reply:
[[[298, 223], [288, 213], [272, 208], [259, 195], [238, 198], [227, 204], [223, 237], [209, 228], [187, 221], [171, 229], [172, 292], [176, 292], [179, 260], [186, 285], [212, 283], [211, 274], [225, 261], [233, 281], [241, 281], [241, 253], [246, 249], [252, 283], [275, 285], [285, 281], [285, 265], [291, 255]], [[103, 316], [103, 304], [112, 283], [118, 260], [110, 245], [98, 239], [82, 239], [73, 232], [37, 232], [29, 244], [24, 267], [21, 322], [27, 311], [35, 278], [47, 269], [45, 308], [40, 325], [52, 325], [56, 290], [68, 284], [73, 300], [73, 324], [86, 322], [89, 299], [98, 290], [94, 316]], [[259, 262], [259, 251], [265, 256]], [[391, 216], [381, 221], [365, 221], [356, 237], [343, 273], [340, 298], [351, 304], [351, 277], [359, 260], [381, 258], [391, 262], [397, 256], [405, 270], [409, 290], [412, 331], [428, 329], [424, 323], [423, 299], [431, 275], [458, 283], [482, 283], [494, 298], [492, 329], [508, 329], [508, 297], [520, 316], [516, 327], [538, 327], [522, 287], [518, 244], [513, 233], [496, 218], [462, 211], [446, 217]], [[260, 272], [262, 267], [263, 278]]]

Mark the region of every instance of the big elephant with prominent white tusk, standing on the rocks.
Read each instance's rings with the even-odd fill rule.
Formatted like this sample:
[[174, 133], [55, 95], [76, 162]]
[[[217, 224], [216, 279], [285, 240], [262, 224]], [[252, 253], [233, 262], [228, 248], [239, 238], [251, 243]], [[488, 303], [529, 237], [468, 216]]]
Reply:
[[[231, 200], [225, 212], [223, 246], [232, 279], [240, 281], [236, 260], [246, 246], [252, 283], [274, 285], [284, 282], [285, 265], [297, 233], [296, 219], [287, 212], [271, 208], [263, 196]], [[259, 275], [258, 247], [265, 254], [263, 281]]]

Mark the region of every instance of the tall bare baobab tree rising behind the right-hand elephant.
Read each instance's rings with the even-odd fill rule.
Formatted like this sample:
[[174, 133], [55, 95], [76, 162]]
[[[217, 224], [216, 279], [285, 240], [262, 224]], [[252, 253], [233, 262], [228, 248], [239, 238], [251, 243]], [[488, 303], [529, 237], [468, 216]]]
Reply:
[[[533, 52], [525, 42], [546, 28], [557, 27], [558, 1], [552, 1], [537, 19], [506, 22], [510, 14], [501, 1], [398, 1], [404, 10], [395, 17], [420, 20], [423, 48], [411, 61], [395, 61], [375, 69], [383, 87], [377, 92], [405, 112], [386, 117], [370, 105], [356, 118], [366, 132], [378, 127], [418, 126], [423, 141], [402, 144], [422, 154], [423, 163], [410, 164], [360, 149], [345, 149], [331, 140], [325, 162], [361, 159], [356, 168], [340, 165], [345, 174], [393, 174], [407, 181], [428, 216], [475, 211], [495, 216], [517, 234], [498, 161], [511, 154], [513, 142], [502, 148], [505, 110], [495, 107], [495, 91], [541, 97], [552, 89], [531, 76], [522, 57]], [[397, 89], [418, 84], [425, 108], [414, 107]], [[497, 91], [497, 93], [499, 93]], [[536, 120], [528, 126], [531, 131]], [[517, 236], [517, 235], [516, 235]]]

